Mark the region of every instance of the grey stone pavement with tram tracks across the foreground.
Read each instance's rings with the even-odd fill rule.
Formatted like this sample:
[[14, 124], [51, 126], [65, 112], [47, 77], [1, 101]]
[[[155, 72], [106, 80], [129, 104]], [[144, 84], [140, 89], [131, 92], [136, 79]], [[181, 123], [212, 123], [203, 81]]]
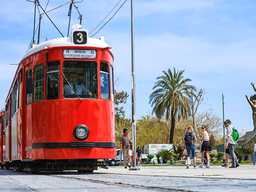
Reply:
[[198, 191], [198, 192], [255, 192], [256, 167], [240, 165], [223, 168], [211, 165], [210, 169], [186, 169], [186, 166], [140, 166], [138, 171], [111, 166], [93, 173], [27, 172], [0, 170], [3, 191]]

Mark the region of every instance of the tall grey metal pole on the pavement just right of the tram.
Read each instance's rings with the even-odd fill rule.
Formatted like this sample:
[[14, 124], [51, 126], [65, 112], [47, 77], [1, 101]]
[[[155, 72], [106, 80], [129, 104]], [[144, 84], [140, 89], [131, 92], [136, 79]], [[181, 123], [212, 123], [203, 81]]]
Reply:
[[136, 115], [135, 115], [135, 73], [134, 73], [134, 24], [133, 24], [133, 0], [131, 0], [131, 21], [132, 21], [132, 156], [134, 159], [133, 167], [129, 170], [140, 170], [136, 167]]

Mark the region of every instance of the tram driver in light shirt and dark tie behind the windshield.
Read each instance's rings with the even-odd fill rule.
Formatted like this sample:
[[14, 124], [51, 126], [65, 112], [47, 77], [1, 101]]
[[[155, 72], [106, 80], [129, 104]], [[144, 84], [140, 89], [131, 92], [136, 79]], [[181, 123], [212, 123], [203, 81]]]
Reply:
[[[77, 79], [77, 74], [75, 72], [70, 72], [68, 74], [69, 84], [74, 88], [77, 95], [90, 95], [90, 97], [92, 97], [92, 93], [84, 86], [84, 84], [77, 83], [76, 79]], [[76, 94], [68, 84], [65, 84], [63, 89], [64, 89], [65, 95]]]

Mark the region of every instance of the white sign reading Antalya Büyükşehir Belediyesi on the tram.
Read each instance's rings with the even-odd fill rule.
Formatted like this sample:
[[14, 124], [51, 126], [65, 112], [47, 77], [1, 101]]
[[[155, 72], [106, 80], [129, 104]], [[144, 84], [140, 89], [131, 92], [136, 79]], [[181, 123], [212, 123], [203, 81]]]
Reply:
[[63, 58], [65, 59], [96, 59], [96, 50], [79, 50], [79, 49], [64, 49]]

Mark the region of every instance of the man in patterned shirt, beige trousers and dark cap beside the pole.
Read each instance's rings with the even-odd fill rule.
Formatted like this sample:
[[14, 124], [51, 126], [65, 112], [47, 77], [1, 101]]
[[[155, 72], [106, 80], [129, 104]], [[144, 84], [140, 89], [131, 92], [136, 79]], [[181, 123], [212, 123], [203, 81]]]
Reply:
[[[131, 167], [132, 138], [130, 135], [128, 135], [129, 131], [127, 129], [124, 129], [123, 132], [124, 132], [124, 134], [122, 135], [121, 140], [120, 140], [120, 146], [121, 146], [120, 151], [123, 152], [123, 156], [124, 156], [124, 169], [127, 169], [127, 165], [129, 168]], [[128, 157], [128, 162], [127, 162], [127, 157]]]

